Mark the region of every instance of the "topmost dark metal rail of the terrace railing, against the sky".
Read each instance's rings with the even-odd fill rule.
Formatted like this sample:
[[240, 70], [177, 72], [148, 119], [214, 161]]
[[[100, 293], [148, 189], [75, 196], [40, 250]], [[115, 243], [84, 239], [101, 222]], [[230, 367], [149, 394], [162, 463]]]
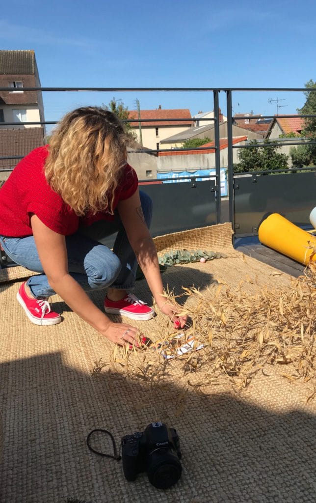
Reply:
[[[10, 91], [13, 88], [8, 88], [8, 87], [0, 87], [0, 92], [7, 92], [7, 93], [12, 93], [13, 91]], [[247, 92], [247, 91], [284, 91], [284, 92], [294, 92], [294, 91], [302, 91], [302, 92], [316, 92], [316, 88], [39, 88], [39, 87], [33, 87], [33, 88], [19, 88], [20, 93], [22, 91], [45, 91], [45, 92], [57, 92], [57, 91], [74, 91], [74, 92], [86, 92], [86, 91], [95, 91], [95, 92], [113, 92], [113, 91], [119, 91], [119, 92], [151, 92], [151, 91], [162, 91], [162, 92], [178, 92], [178, 91], [183, 91], [183, 92], [204, 92], [204, 91], [209, 91], [209, 92], [214, 92], [214, 91], [224, 91], [224, 92], [229, 92], [229, 91], [240, 91], [240, 92]], [[21, 91], [22, 90], [22, 91]]]

